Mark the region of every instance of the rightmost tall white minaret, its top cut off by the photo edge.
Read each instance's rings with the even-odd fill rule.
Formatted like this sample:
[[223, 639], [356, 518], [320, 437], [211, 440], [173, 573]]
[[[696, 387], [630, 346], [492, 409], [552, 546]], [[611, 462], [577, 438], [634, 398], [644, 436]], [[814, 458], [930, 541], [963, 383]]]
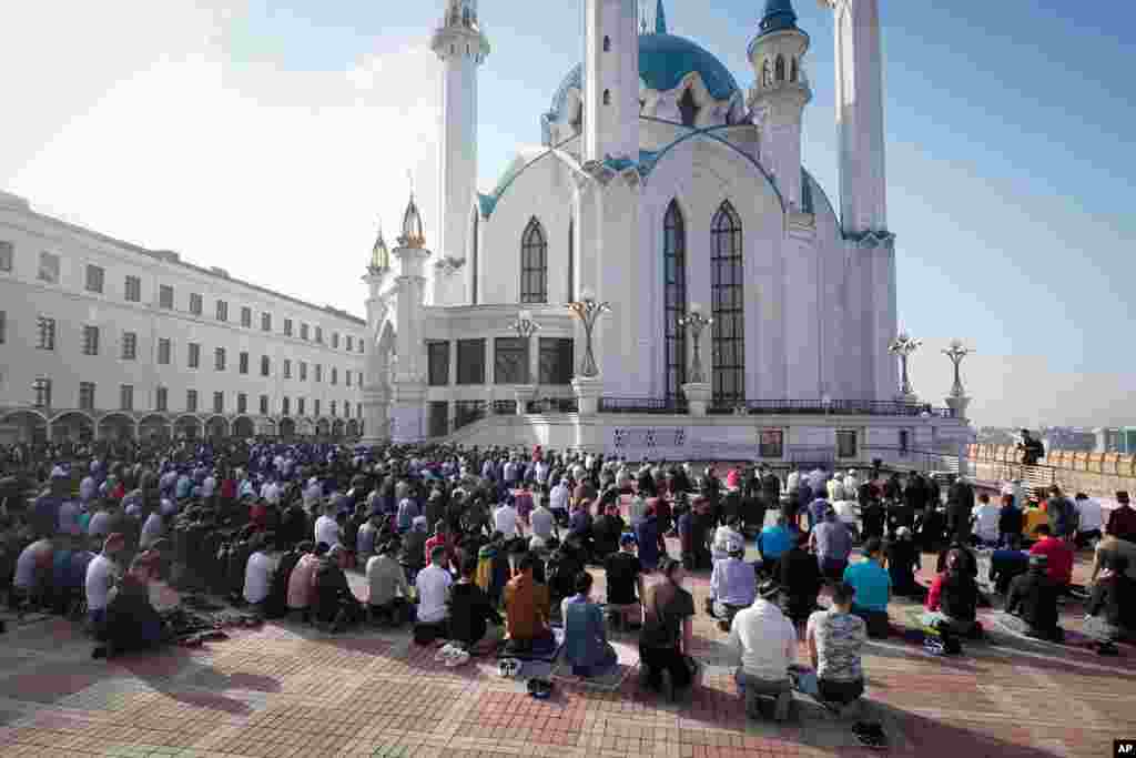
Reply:
[[835, 11], [841, 217], [849, 235], [887, 230], [879, 0], [821, 0]]

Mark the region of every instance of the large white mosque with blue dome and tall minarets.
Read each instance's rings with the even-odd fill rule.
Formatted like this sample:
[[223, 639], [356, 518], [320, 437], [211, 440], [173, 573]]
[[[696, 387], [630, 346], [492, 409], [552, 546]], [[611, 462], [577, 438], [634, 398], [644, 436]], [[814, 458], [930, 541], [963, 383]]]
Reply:
[[[368, 436], [780, 460], [969, 436], [964, 407], [900, 392], [889, 351], [878, 0], [821, 1], [838, 209], [801, 163], [811, 39], [791, 0], [755, 23], [747, 90], [673, 33], [663, 0], [653, 24], [637, 0], [583, 0], [583, 60], [533, 114], [541, 143], [487, 191], [491, 47], [477, 0], [446, 0], [436, 208], [411, 198], [365, 277]], [[438, 217], [429, 247], [423, 213]]]

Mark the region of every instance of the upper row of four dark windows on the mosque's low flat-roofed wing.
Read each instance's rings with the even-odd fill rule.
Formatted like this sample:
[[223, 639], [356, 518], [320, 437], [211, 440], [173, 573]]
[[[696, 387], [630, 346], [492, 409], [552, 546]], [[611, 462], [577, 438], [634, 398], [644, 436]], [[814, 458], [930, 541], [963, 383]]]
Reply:
[[[485, 384], [485, 339], [458, 340], [457, 384]], [[426, 343], [427, 380], [431, 386], [450, 385], [450, 342]], [[499, 336], [493, 340], [493, 383], [532, 384], [531, 340]], [[565, 338], [540, 338], [537, 382], [542, 385], [570, 384], [574, 342]]]

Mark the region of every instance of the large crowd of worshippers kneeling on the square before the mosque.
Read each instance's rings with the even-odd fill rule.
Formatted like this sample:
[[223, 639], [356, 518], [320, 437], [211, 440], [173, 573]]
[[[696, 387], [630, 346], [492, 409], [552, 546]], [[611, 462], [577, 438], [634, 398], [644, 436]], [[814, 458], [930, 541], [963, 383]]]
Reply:
[[[888, 634], [895, 595], [925, 601], [922, 623], [944, 649], [980, 635], [978, 556], [1004, 592], [1006, 625], [1059, 640], [1074, 550], [1088, 543], [1085, 634], [1109, 655], [1136, 628], [1127, 493], [1105, 525], [1095, 501], [1056, 489], [1034, 503], [1008, 485], [994, 519], [964, 481], [944, 492], [919, 473], [817, 468], [783, 482], [741, 466], [719, 478], [715, 466], [538, 447], [182, 442], [131, 460], [41, 463], [43, 492], [2, 516], [9, 603], [85, 613], [98, 656], [168, 640], [147, 594], [162, 577], [331, 632], [410, 626], [418, 643], [449, 641], [457, 656], [541, 656], [562, 644], [582, 676], [616, 665], [613, 624], [638, 632], [644, 685], [682, 691], [696, 673], [683, 580], [709, 570], [704, 610], [738, 651], [747, 707], [771, 703], [780, 718], [786, 683], [837, 705], [862, 694], [859, 650]], [[745, 560], [750, 540], [755, 564]], [[863, 559], [851, 561], [857, 543]], [[929, 590], [914, 575], [925, 551], [938, 555]], [[588, 566], [605, 570], [603, 605]], [[352, 568], [366, 577], [365, 600], [351, 590]], [[828, 609], [818, 603], [826, 583]], [[791, 668], [788, 642], [802, 628], [809, 672]]]

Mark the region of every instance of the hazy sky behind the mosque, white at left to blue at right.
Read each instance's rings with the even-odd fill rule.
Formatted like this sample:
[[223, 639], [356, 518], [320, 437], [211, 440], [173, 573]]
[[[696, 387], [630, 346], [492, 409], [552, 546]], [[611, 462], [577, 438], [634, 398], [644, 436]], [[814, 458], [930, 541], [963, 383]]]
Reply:
[[[762, 0], [666, 0], [743, 88]], [[412, 177], [434, 236], [442, 0], [0, 3], [0, 190], [34, 209], [362, 313]], [[650, 2], [653, 9], [654, 0]], [[833, 19], [812, 40], [803, 161], [838, 206]], [[583, 0], [482, 0], [490, 188], [583, 50]], [[888, 223], [914, 389], [951, 338], [979, 425], [1136, 424], [1136, 98], [1128, 3], [880, 0]], [[1127, 35], [1127, 36], [1125, 36]], [[1119, 340], [1119, 342], [1116, 342]]]

